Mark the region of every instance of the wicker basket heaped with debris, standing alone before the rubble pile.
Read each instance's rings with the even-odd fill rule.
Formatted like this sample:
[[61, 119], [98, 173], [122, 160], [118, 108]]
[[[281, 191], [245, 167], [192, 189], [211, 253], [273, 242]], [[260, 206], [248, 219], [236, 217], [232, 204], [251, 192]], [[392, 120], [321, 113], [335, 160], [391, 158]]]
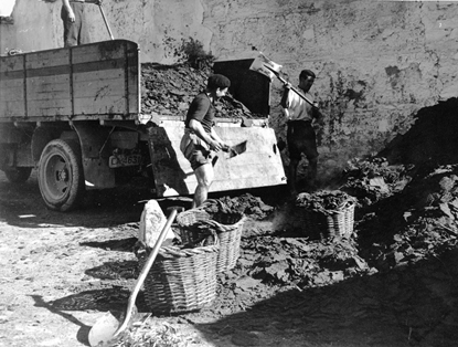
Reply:
[[305, 232], [313, 239], [348, 238], [353, 232], [355, 202], [349, 200], [340, 210], [302, 210]]

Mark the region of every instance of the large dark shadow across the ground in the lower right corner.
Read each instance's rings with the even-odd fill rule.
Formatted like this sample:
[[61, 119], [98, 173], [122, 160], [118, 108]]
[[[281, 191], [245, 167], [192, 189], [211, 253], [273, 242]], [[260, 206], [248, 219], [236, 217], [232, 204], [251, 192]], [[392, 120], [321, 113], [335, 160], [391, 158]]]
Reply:
[[222, 345], [452, 346], [458, 338], [457, 261], [458, 250], [452, 250], [386, 273], [289, 290], [217, 322], [187, 318]]

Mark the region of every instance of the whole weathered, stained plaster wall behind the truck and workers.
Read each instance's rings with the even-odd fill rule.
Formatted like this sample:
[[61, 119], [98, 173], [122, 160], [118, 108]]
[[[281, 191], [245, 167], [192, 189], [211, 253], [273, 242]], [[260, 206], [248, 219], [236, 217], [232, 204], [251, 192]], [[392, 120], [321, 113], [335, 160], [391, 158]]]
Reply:
[[[0, 25], [0, 52], [62, 46], [60, 9], [17, 0], [14, 24]], [[192, 36], [220, 60], [263, 51], [292, 83], [313, 70], [321, 176], [383, 148], [419, 108], [458, 96], [456, 1], [105, 0], [104, 9], [115, 38], [138, 42], [143, 62], [175, 62]], [[89, 18], [94, 41], [108, 40], [97, 7]], [[274, 81], [270, 125], [285, 138], [280, 91]]]

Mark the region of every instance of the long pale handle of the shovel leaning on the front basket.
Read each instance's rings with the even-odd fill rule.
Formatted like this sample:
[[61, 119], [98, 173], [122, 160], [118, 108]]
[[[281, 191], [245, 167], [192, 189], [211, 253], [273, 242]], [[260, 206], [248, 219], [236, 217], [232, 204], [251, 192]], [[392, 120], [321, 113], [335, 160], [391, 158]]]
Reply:
[[167, 232], [169, 231], [171, 224], [173, 223], [173, 220], [177, 217], [178, 211], [182, 211], [183, 208], [182, 207], [172, 207], [171, 208], [171, 212], [169, 214], [169, 218], [167, 219], [167, 223], [166, 225], [163, 225], [161, 233], [159, 234], [158, 240], [155, 243], [155, 246], [151, 250], [151, 253], [148, 255], [148, 259], [143, 265], [143, 269], [141, 269], [140, 275], [138, 276], [137, 283], [135, 284], [135, 287], [132, 290], [132, 293], [129, 296], [129, 302], [127, 304], [127, 309], [126, 309], [126, 317], [124, 318], [123, 324], [116, 329], [115, 334], [113, 337], [116, 337], [117, 335], [119, 335], [121, 332], [124, 332], [130, 320], [130, 317], [132, 315], [132, 308], [135, 305], [135, 302], [137, 299], [137, 295], [138, 292], [140, 292], [141, 285], [145, 282], [145, 278], [147, 277], [152, 263], [156, 260], [156, 256], [159, 253], [159, 249], [162, 245], [162, 242], [166, 240], [167, 236]]

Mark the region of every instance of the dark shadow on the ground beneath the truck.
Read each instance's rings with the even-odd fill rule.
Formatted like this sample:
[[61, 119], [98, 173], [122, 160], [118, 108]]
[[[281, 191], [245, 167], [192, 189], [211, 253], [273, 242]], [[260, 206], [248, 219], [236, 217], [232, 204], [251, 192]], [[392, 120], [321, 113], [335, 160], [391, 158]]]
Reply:
[[[142, 182], [142, 183], [141, 183]], [[83, 227], [109, 228], [137, 223], [145, 203], [153, 199], [146, 180], [136, 186], [87, 191], [83, 206], [74, 211], [57, 212], [42, 201], [36, 172], [22, 185], [12, 185], [0, 172], [0, 219], [20, 228]]]

